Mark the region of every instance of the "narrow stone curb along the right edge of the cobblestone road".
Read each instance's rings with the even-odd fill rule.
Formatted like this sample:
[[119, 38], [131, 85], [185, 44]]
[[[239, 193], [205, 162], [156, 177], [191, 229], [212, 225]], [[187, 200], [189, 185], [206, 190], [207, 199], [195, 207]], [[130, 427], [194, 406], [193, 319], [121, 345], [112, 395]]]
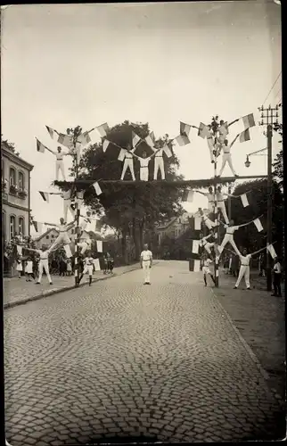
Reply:
[[[256, 365], [256, 367], [258, 368], [258, 371], [260, 372], [261, 376], [263, 376], [263, 378], [268, 381], [270, 379], [269, 374], [266, 372], [265, 368], [262, 367], [258, 357], [255, 355], [255, 353], [252, 351], [252, 349], [250, 348], [250, 345], [245, 341], [245, 339], [243, 338], [242, 334], [240, 333], [239, 329], [237, 328], [237, 326], [234, 325], [234, 321], [233, 319], [230, 317], [229, 313], [225, 310], [225, 308], [223, 307], [223, 305], [217, 300], [217, 294], [214, 292], [214, 290], [212, 288], [209, 288], [209, 290], [212, 293], [212, 297], [213, 300], [217, 302], [217, 307], [222, 311], [223, 316], [228, 320], [229, 324], [233, 327], [234, 333], [237, 335], [237, 337], [239, 338], [239, 341], [242, 343], [242, 346], [244, 347], [244, 349], [248, 352], [248, 354], [250, 355], [251, 360], [254, 362], [254, 364]], [[269, 384], [267, 383], [267, 387], [268, 390], [270, 392], [272, 392], [275, 396], [276, 401], [278, 402], [279, 406], [281, 409], [285, 409], [285, 405], [284, 402], [282, 401], [282, 398], [280, 395], [278, 395], [278, 393], [275, 391], [275, 389], [271, 386], [269, 386]]]

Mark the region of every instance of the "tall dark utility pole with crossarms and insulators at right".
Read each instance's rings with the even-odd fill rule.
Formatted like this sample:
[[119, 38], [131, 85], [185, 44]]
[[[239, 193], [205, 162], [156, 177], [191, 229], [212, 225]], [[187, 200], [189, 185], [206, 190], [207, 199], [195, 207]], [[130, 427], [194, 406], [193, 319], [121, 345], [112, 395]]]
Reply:
[[[268, 108], [258, 108], [261, 111], [261, 121], [259, 126], [266, 126], [267, 137], [267, 244], [272, 244], [272, 137], [273, 126], [278, 123], [278, 105], [272, 108], [269, 105]], [[264, 114], [266, 113], [266, 114]], [[266, 289], [272, 290], [272, 275], [271, 275], [271, 258], [270, 253], [266, 252]]]

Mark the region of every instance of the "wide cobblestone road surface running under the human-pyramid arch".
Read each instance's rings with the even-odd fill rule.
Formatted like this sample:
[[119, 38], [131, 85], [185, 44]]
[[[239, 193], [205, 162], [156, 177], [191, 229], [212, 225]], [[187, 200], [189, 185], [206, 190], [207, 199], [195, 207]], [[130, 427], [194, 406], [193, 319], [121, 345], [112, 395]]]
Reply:
[[4, 312], [13, 446], [283, 438], [284, 414], [201, 273], [143, 272]]

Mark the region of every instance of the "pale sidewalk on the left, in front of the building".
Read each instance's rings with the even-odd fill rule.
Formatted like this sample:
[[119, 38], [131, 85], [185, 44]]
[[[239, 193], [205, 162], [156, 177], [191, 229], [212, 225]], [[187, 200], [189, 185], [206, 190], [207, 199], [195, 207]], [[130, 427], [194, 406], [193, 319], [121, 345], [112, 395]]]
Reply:
[[[129, 271], [134, 271], [138, 268], [140, 268], [140, 264], [134, 263], [133, 265], [125, 265], [123, 267], [114, 268], [114, 273], [112, 275], [104, 275], [102, 271], [96, 271], [93, 274], [93, 282], [115, 276], [121, 276], [122, 274]], [[86, 277], [83, 277], [80, 286], [87, 285]], [[21, 279], [18, 277], [4, 278], [4, 309], [12, 308], [28, 301], [36, 301], [37, 299], [41, 299], [55, 293], [61, 293], [75, 287], [74, 276], [53, 276], [52, 278], [53, 285], [48, 284], [45, 276], [42, 277], [41, 285], [36, 285], [34, 281], [26, 282], [26, 277], [21, 277]]]

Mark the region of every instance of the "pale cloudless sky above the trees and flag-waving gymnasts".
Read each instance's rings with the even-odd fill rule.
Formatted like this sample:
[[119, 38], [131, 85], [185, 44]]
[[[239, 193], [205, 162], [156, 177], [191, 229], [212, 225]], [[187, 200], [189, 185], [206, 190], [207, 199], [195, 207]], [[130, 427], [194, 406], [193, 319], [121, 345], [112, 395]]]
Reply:
[[[37, 221], [58, 222], [62, 214], [60, 197], [47, 204], [38, 194], [55, 191], [54, 157], [36, 151], [35, 136], [57, 146], [45, 125], [65, 132], [130, 120], [149, 122], [155, 136], [176, 137], [179, 121], [198, 126], [215, 114], [230, 122], [253, 112], [258, 123], [259, 106], [281, 102], [281, 7], [272, 0], [23, 4], [5, 6], [1, 15], [2, 134], [34, 165]], [[240, 120], [230, 139], [242, 130]], [[266, 156], [244, 165], [247, 153], [266, 147], [263, 130], [251, 128], [251, 140], [234, 145], [239, 175], [266, 175]], [[100, 141], [97, 131], [91, 138]], [[190, 138], [190, 145], [175, 147], [179, 173], [211, 178], [207, 141], [195, 129]], [[223, 176], [230, 173], [226, 166]], [[184, 208], [197, 211], [205, 201], [195, 194]]]

